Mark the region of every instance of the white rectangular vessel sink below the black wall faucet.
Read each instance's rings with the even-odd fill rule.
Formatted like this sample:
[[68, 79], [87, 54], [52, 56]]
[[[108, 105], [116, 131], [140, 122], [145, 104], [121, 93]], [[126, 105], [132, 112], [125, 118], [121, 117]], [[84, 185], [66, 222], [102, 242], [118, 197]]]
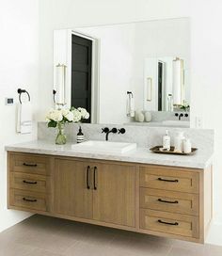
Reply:
[[71, 149], [77, 152], [124, 153], [135, 150], [136, 143], [87, 140], [79, 144], [71, 145]]

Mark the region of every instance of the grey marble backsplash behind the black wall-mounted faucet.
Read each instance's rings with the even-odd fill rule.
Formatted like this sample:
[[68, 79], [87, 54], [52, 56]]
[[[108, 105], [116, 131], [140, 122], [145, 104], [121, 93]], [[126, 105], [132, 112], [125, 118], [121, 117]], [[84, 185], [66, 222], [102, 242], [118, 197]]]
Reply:
[[[147, 126], [134, 126], [134, 125], [115, 125], [115, 124], [87, 124], [82, 123], [82, 130], [86, 139], [91, 140], [104, 140], [105, 135], [102, 134], [103, 127], [109, 128], [125, 128], [126, 133], [110, 134], [110, 141], [124, 141], [136, 142], [138, 147], [151, 148], [156, 145], [162, 144], [162, 137], [166, 133], [166, 129], [171, 136], [171, 144], [173, 145], [173, 138], [178, 132], [183, 131], [184, 136], [189, 137], [192, 142], [192, 147], [197, 147], [199, 150], [214, 152], [214, 130], [208, 129], [193, 129], [193, 128], [174, 128], [174, 127], [147, 127]], [[66, 124], [65, 133], [67, 135], [68, 143], [76, 142], [76, 135], [78, 132], [79, 124], [69, 123]], [[46, 122], [38, 123], [38, 139], [55, 142], [56, 129], [48, 128]]]

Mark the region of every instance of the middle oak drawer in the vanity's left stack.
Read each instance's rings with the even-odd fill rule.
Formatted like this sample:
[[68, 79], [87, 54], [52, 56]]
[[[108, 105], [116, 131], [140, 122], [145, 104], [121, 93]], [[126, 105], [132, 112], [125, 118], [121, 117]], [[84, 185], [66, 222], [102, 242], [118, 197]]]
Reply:
[[37, 174], [10, 172], [10, 187], [36, 192], [49, 192], [49, 177]]

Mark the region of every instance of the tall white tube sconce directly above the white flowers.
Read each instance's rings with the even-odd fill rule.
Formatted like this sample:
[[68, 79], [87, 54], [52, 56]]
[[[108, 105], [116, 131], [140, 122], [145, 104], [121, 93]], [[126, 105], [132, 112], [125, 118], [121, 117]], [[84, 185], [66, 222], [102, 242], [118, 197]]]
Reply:
[[57, 105], [66, 104], [66, 72], [67, 66], [56, 65], [56, 90], [54, 90], [55, 103]]

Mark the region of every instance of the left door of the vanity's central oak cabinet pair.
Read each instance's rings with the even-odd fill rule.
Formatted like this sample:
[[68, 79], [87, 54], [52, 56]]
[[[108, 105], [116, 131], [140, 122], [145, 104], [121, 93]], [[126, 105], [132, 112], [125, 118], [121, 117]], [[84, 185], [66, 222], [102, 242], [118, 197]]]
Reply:
[[54, 173], [56, 214], [92, 218], [93, 195], [92, 190], [87, 188], [87, 166], [88, 164], [82, 161], [56, 159]]

